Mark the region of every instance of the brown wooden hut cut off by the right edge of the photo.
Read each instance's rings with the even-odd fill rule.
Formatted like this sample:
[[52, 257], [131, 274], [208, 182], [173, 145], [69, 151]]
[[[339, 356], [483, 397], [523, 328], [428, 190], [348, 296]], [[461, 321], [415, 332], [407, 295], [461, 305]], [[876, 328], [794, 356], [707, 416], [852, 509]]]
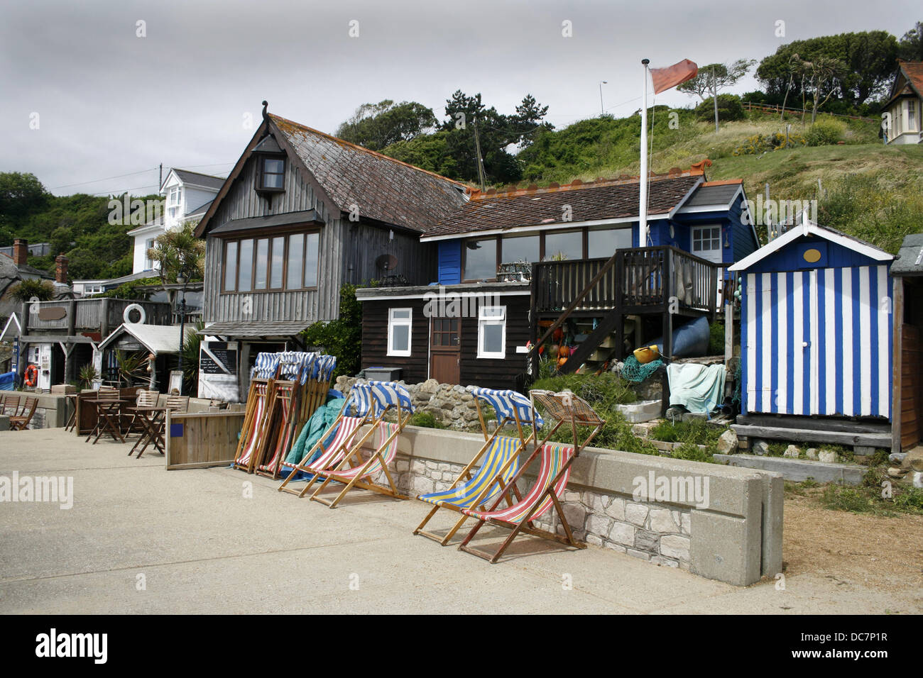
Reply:
[[893, 277], [893, 452], [923, 440], [923, 233], [908, 235], [891, 267]]

